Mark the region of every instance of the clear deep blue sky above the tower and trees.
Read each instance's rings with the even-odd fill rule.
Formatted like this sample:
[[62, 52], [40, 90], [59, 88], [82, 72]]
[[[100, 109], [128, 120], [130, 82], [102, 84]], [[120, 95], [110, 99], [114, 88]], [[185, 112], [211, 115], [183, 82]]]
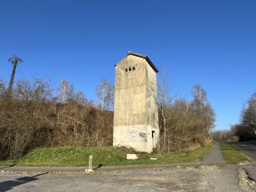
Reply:
[[88, 99], [127, 51], [164, 64], [173, 91], [190, 98], [193, 84], [208, 94], [217, 129], [239, 119], [256, 90], [256, 1], [12, 1], [0, 2], [0, 78], [60, 77]]

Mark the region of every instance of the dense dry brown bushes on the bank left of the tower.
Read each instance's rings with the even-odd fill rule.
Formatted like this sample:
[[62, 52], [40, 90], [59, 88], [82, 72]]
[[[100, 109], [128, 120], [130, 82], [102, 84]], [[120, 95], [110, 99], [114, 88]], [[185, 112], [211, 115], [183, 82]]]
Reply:
[[96, 109], [81, 93], [67, 89], [71, 93], [61, 103], [51, 85], [38, 78], [18, 81], [11, 97], [5, 88], [1, 82], [0, 159], [19, 158], [41, 146], [112, 145], [113, 112]]

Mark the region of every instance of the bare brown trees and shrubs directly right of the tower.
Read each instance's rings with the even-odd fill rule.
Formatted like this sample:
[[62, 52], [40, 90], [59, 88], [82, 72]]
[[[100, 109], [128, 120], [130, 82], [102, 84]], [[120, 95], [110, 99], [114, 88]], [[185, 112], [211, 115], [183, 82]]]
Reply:
[[215, 113], [207, 101], [206, 92], [194, 85], [193, 100], [177, 98], [165, 76], [158, 85], [160, 142], [158, 153], [204, 146], [215, 126]]

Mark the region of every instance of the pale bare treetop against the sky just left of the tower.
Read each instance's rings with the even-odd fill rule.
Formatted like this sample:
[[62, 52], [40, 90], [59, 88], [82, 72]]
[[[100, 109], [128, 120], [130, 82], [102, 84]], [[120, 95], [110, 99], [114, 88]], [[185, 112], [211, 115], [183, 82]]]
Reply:
[[101, 110], [110, 109], [114, 105], [115, 88], [110, 81], [102, 77], [95, 91], [98, 99], [101, 100]]

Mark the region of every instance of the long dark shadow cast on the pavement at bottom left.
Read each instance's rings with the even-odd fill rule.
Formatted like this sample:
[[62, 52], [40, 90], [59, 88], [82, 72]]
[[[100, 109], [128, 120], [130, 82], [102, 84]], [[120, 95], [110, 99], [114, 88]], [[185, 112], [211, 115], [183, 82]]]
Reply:
[[40, 175], [47, 174], [47, 173], [48, 172], [37, 174], [37, 175], [35, 175], [33, 177], [22, 177], [22, 178], [17, 178], [15, 180], [9, 180], [9, 181], [0, 182], [0, 192], [11, 190], [11, 189], [13, 189], [13, 187], [25, 184], [27, 182], [38, 180], [38, 178], [36, 178], [36, 177], [38, 177]]

